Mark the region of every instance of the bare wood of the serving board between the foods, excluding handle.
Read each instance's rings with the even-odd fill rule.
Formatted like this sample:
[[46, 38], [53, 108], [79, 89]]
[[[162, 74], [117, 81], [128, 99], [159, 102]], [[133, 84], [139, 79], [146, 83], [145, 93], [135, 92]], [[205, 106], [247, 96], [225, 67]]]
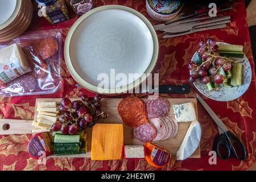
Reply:
[[[71, 101], [75, 101], [78, 99], [71, 99]], [[107, 119], [100, 119], [98, 123], [123, 123], [121, 117], [118, 114], [118, 104], [122, 99], [119, 98], [104, 98], [101, 100], [101, 109], [105, 113], [108, 113]], [[172, 105], [176, 104], [183, 104], [186, 102], [193, 102], [195, 105], [196, 113], [197, 113], [197, 100], [195, 98], [169, 98], [167, 99], [170, 102], [170, 116], [174, 117], [174, 110], [172, 109]], [[57, 104], [60, 104], [61, 98], [38, 98], [36, 99], [36, 107], [38, 105], [38, 102], [57, 102]], [[35, 120], [37, 118], [38, 112], [36, 111], [35, 107]], [[168, 140], [162, 140], [158, 143], [160, 146], [163, 146], [166, 148], [168, 152], [170, 152], [173, 156], [176, 155], [177, 151], [179, 150], [181, 143], [183, 142], [183, 139], [185, 137], [185, 134], [187, 134], [188, 127], [190, 126], [191, 122], [181, 122], [179, 123], [179, 132], [177, 133], [176, 137], [170, 138]], [[90, 152], [92, 147], [92, 128], [86, 129], [87, 140], [88, 140], [88, 152], [86, 154], [81, 155], [68, 155], [68, 156], [55, 156], [52, 155], [50, 157], [52, 158], [59, 158], [59, 157], [69, 157], [69, 158], [90, 158]], [[126, 126], [123, 124], [123, 137], [124, 137], [124, 143], [125, 145], [131, 144], [144, 144], [143, 142], [139, 141], [138, 139], [135, 139], [133, 137], [133, 128]], [[194, 154], [191, 155], [191, 158], [200, 158], [200, 146], [197, 148]]]

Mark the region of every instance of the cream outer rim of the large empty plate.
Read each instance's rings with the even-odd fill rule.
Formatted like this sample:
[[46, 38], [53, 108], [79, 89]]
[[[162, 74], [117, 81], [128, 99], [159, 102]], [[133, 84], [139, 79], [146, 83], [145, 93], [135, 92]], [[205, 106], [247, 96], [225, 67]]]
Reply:
[[[98, 92], [97, 86], [94, 86], [92, 84], [90, 84], [89, 82], [86, 82], [84, 79], [82, 79], [79, 74], [76, 72], [75, 68], [72, 65], [72, 61], [71, 61], [71, 57], [69, 54], [69, 45], [71, 43], [71, 39], [72, 39], [72, 35], [75, 32], [76, 28], [80, 25], [80, 23], [87, 18], [88, 16], [97, 13], [98, 11], [103, 11], [103, 10], [109, 10], [109, 9], [117, 9], [117, 10], [125, 10], [128, 11], [129, 13], [132, 13], [136, 16], [138, 16], [138, 18], [140, 18], [148, 27], [148, 29], [151, 32], [152, 35], [152, 39], [153, 39], [153, 44], [154, 44], [154, 52], [153, 52], [153, 56], [151, 59], [151, 63], [148, 66], [148, 68], [146, 69], [146, 71], [144, 73], [151, 73], [152, 70], [155, 67], [156, 61], [158, 59], [158, 52], [159, 52], [159, 43], [158, 43], [158, 36], [156, 35], [156, 32], [154, 30], [154, 27], [152, 26], [152, 24], [149, 22], [149, 20], [142, 15], [141, 13], [139, 13], [138, 11], [131, 9], [130, 7], [126, 7], [126, 6], [121, 6], [121, 5], [106, 5], [106, 6], [100, 6], [97, 7], [93, 10], [88, 11], [88, 13], [82, 15], [71, 27], [71, 29], [68, 32], [67, 38], [65, 40], [65, 46], [64, 46], [64, 58], [65, 58], [65, 62], [67, 64], [67, 68], [68, 71], [71, 73], [72, 77], [84, 88], [92, 91], [92, 92]], [[134, 88], [137, 87], [139, 84], [141, 84], [141, 82], [143, 82], [146, 79], [143, 78], [141, 81], [136, 80], [134, 82], [132, 82], [131, 84], [127, 85], [127, 88]], [[128, 90], [126, 90], [128, 91]], [[115, 94], [117, 93], [115, 88], [108, 88], [108, 92], [105, 92], [104, 94]]]

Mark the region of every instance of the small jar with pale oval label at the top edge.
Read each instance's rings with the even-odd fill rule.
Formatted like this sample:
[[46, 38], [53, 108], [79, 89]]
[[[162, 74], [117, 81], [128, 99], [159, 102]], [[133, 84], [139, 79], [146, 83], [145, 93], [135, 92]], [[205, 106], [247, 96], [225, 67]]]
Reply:
[[93, 9], [92, 0], [69, 0], [69, 4], [73, 8], [77, 16], [81, 16]]

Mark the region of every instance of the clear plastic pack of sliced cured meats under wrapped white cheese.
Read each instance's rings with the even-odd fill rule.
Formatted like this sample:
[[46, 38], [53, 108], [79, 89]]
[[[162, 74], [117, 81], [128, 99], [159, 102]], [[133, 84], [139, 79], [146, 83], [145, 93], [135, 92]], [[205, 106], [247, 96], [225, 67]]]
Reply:
[[55, 93], [61, 85], [61, 44], [61, 30], [28, 32], [1, 44], [0, 50], [22, 47], [30, 68], [26, 74], [0, 84], [0, 97]]

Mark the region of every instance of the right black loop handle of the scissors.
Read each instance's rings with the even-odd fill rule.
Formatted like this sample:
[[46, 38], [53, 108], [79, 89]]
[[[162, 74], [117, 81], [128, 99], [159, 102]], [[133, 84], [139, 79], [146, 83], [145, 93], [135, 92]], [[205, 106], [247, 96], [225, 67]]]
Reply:
[[246, 157], [246, 149], [243, 146], [242, 142], [230, 131], [226, 132], [226, 136], [228, 137], [230, 150], [232, 151], [233, 155], [240, 160], [245, 159]]

